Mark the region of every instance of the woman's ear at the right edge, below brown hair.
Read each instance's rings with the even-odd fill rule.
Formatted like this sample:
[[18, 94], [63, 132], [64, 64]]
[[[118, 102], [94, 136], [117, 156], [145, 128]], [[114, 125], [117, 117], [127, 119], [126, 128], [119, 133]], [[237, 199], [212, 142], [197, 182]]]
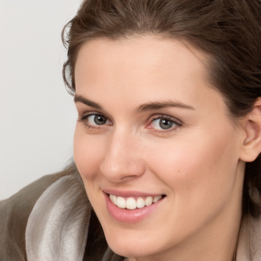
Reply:
[[252, 111], [245, 118], [245, 140], [242, 144], [240, 159], [254, 161], [261, 152], [261, 98], [254, 103]]

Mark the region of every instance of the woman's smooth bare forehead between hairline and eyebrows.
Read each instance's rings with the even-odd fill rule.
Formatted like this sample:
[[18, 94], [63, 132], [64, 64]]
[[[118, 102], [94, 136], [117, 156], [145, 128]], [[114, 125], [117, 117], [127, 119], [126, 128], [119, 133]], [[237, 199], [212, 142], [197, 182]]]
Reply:
[[123, 107], [155, 99], [174, 99], [195, 107], [213, 94], [223, 102], [210, 88], [205, 61], [199, 50], [173, 39], [149, 35], [93, 39], [77, 57], [76, 94], [96, 101], [122, 101]]

